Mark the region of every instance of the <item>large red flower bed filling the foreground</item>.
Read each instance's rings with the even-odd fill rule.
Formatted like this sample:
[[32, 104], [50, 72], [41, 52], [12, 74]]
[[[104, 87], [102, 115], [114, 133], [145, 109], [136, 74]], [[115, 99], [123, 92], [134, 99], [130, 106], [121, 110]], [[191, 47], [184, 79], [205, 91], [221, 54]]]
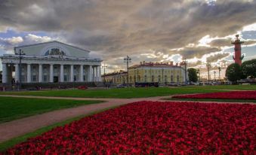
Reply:
[[135, 102], [85, 117], [8, 154], [253, 154], [256, 105]]

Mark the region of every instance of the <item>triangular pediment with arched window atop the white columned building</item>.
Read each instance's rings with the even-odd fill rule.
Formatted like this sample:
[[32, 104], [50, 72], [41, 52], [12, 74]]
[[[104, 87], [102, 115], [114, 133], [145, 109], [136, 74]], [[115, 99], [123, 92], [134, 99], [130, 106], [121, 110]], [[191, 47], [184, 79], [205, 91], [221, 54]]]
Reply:
[[64, 44], [59, 41], [50, 41], [40, 44], [30, 44], [20, 47], [14, 47], [14, 52], [17, 54], [23, 51], [27, 56], [51, 56], [51, 57], [89, 57], [89, 50], [84, 50], [79, 47], [74, 47], [69, 44]]

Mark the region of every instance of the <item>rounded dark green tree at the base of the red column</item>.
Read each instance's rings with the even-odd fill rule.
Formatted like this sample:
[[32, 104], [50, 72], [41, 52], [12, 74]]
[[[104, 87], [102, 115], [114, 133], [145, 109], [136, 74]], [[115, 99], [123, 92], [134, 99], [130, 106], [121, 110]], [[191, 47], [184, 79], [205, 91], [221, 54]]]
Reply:
[[241, 66], [237, 63], [233, 63], [227, 67], [226, 70], [227, 80], [236, 83], [236, 81], [240, 80], [242, 77]]

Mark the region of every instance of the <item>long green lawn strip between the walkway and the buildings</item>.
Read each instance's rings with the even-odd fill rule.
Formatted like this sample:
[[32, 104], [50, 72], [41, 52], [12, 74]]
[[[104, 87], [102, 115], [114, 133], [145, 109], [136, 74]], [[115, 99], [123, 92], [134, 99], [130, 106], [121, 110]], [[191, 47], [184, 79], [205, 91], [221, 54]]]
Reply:
[[26, 92], [2, 92], [0, 94], [13, 94], [22, 96], [65, 96], [65, 97], [91, 97], [91, 98], [141, 98], [151, 96], [170, 96], [186, 93], [213, 93], [221, 90], [205, 90], [200, 87], [145, 87], [145, 88], [113, 88], [109, 90], [44, 90]]

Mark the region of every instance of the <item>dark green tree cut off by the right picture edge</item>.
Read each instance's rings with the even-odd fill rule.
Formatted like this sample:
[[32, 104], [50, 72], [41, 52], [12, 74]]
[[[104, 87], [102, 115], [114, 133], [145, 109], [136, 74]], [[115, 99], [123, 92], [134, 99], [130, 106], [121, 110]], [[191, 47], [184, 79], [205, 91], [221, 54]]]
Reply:
[[245, 78], [256, 78], [256, 59], [242, 62], [242, 73]]

